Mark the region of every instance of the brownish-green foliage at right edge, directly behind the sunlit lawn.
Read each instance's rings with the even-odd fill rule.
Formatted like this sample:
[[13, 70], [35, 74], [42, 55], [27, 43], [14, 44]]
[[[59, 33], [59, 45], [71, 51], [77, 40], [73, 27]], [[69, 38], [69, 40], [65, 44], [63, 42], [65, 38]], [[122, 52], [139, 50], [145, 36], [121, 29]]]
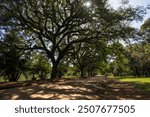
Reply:
[[150, 76], [150, 46], [135, 44], [130, 47], [129, 63], [135, 76]]

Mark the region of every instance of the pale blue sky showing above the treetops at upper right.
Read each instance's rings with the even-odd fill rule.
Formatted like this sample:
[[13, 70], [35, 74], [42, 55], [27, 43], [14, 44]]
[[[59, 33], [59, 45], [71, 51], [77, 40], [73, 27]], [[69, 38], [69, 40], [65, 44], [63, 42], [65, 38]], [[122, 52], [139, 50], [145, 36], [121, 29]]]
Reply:
[[[133, 7], [136, 6], [144, 6], [146, 7], [147, 5], [150, 5], [150, 0], [128, 0], [129, 4], [132, 5]], [[121, 0], [110, 0], [110, 4], [114, 7], [117, 8], [119, 6], [119, 3], [121, 2]], [[150, 11], [148, 11], [147, 15], [144, 17], [143, 22], [150, 17]], [[143, 22], [138, 22], [138, 23], [133, 23], [133, 25], [136, 28], [140, 28], [141, 24]]]

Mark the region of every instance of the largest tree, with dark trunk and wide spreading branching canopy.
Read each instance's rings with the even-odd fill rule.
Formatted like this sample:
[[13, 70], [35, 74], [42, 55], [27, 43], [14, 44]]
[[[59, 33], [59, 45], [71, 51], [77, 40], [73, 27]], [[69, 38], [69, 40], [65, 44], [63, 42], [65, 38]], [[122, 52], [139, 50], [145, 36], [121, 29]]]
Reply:
[[[85, 4], [91, 2], [91, 6]], [[82, 42], [127, 38], [129, 23], [141, 19], [137, 8], [114, 10], [107, 0], [0, 0], [0, 26], [20, 31], [28, 47], [44, 51], [52, 62], [51, 78], [65, 55]], [[142, 11], [143, 12], [143, 11]]]

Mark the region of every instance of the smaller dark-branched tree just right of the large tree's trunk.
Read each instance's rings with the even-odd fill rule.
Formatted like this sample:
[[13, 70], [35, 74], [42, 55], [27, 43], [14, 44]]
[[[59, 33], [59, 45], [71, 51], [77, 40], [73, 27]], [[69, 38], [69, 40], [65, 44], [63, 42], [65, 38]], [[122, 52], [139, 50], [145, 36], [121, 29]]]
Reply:
[[69, 53], [71, 63], [80, 72], [80, 77], [94, 76], [100, 67], [100, 62], [106, 59], [107, 44], [98, 40], [96, 43], [80, 43]]

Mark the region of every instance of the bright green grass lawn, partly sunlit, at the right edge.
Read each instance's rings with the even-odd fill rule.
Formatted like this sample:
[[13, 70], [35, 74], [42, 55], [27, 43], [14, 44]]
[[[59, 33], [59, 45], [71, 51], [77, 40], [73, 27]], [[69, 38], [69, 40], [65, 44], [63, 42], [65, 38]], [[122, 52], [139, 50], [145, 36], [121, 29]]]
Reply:
[[121, 82], [132, 83], [135, 88], [142, 89], [145, 91], [150, 91], [150, 77], [115, 77]]

